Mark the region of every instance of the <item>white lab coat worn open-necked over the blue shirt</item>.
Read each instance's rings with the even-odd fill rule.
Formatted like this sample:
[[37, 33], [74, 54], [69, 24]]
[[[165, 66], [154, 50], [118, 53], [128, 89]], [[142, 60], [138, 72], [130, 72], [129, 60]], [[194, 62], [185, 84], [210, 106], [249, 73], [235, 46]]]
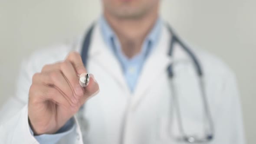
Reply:
[[[177, 120], [170, 114], [171, 87], [166, 69], [171, 62], [175, 63], [174, 83], [184, 129], [187, 134], [202, 134], [204, 115], [197, 75], [190, 58], [178, 44], [174, 46], [174, 57], [167, 56], [170, 36], [167, 28], [162, 26], [160, 42], [144, 63], [134, 93], [130, 93], [120, 64], [107, 48], [96, 25], [87, 69], [95, 75], [100, 92], [85, 103], [86, 121], [79, 124], [75, 118], [75, 131], [63, 137], [59, 144], [83, 144], [82, 135], [85, 144], [119, 144], [124, 127], [124, 144], [183, 144], [171, 138], [179, 134]], [[0, 111], [0, 144], [38, 144], [28, 125], [31, 78], [43, 65], [65, 59], [72, 50], [80, 52], [83, 39], [81, 36], [75, 42], [43, 49], [23, 63], [16, 96], [10, 98]], [[209, 144], [244, 144], [235, 75], [216, 57], [193, 50], [203, 68], [213, 117], [215, 135]], [[170, 125], [171, 118], [174, 118], [173, 125]], [[81, 132], [81, 124], [86, 124], [86, 131]]]

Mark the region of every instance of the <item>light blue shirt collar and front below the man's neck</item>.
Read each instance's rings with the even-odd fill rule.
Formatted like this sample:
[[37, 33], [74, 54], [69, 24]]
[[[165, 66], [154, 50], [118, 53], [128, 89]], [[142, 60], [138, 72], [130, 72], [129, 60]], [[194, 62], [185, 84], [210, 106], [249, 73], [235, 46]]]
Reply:
[[136, 87], [139, 75], [141, 73], [141, 69], [143, 68], [144, 61], [150, 54], [151, 49], [154, 48], [154, 46], [159, 41], [159, 36], [161, 32], [160, 18], [158, 18], [158, 20], [154, 24], [153, 29], [151, 29], [151, 32], [144, 39], [141, 52], [138, 55], [133, 56], [131, 59], [125, 56], [125, 54], [122, 52], [121, 44], [118, 40], [118, 37], [111, 29], [111, 27], [108, 25], [104, 16], [100, 18], [99, 25], [105, 43], [107, 43], [108, 48], [112, 52], [114, 52], [116, 58], [120, 62], [125, 80], [131, 92], [133, 92]]

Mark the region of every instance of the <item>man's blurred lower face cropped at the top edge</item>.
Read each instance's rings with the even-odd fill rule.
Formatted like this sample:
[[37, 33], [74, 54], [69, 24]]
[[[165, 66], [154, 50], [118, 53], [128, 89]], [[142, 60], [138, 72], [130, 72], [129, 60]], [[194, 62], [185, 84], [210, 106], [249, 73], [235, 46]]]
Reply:
[[152, 10], [156, 10], [159, 1], [160, 0], [102, 0], [105, 13], [121, 19], [141, 18]]

